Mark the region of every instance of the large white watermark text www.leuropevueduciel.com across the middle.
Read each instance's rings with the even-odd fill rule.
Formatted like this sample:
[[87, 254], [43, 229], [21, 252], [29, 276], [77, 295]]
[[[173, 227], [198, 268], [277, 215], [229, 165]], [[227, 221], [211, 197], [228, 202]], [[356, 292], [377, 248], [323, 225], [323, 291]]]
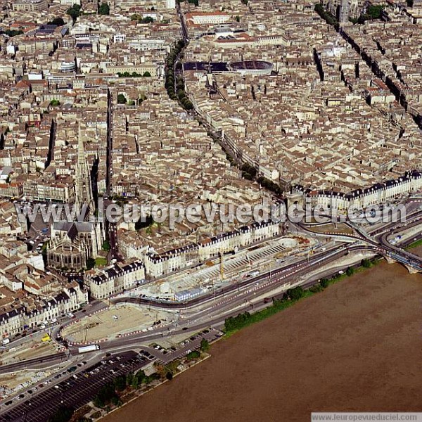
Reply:
[[[41, 216], [45, 224], [51, 222], [118, 222], [145, 223], [151, 222], [165, 224], [174, 229], [176, 224], [190, 222], [205, 223], [234, 223], [250, 224], [251, 222], [274, 223], [326, 223], [326, 222], [352, 222], [376, 224], [379, 222], [406, 222], [406, 207], [403, 204], [369, 205], [362, 209], [350, 206], [347, 210], [336, 210], [330, 205], [313, 206], [310, 200], [305, 204], [274, 203], [264, 201], [260, 204], [219, 204], [219, 203], [194, 203], [185, 205], [172, 204], [139, 204], [139, 203], [104, 203], [103, 198], [98, 198], [95, 212], [90, 212], [87, 219], [87, 205], [77, 207], [75, 204], [63, 203], [34, 203], [33, 205], [15, 204], [18, 220], [33, 223]], [[92, 211], [92, 210], [91, 210]]]

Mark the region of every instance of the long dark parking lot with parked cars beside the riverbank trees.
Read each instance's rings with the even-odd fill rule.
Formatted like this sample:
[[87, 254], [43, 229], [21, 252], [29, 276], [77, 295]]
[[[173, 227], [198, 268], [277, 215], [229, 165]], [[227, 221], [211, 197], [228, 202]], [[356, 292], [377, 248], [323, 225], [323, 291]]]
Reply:
[[84, 406], [103, 385], [117, 376], [137, 371], [151, 362], [168, 364], [198, 350], [203, 338], [211, 342], [221, 335], [220, 331], [209, 328], [191, 335], [170, 349], [155, 344], [142, 347], [140, 353], [113, 354], [92, 366], [80, 362], [32, 387], [24, 395], [6, 402], [0, 409], [0, 422], [46, 422], [60, 406], [74, 409]]

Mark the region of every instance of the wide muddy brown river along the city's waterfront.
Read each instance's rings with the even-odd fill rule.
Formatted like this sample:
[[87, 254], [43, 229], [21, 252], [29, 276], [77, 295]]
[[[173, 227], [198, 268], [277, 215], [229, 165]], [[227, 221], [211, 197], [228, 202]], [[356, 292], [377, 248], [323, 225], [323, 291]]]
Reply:
[[[414, 250], [416, 252], [416, 250]], [[422, 411], [422, 276], [382, 263], [222, 340], [212, 358], [104, 422], [309, 422]]]

